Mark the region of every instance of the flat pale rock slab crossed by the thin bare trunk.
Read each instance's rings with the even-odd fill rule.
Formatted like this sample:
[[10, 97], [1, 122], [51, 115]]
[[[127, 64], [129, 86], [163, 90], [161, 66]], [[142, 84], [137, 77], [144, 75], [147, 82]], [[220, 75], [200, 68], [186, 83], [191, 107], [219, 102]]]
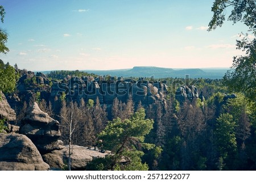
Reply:
[[[104, 158], [105, 155], [108, 154], [72, 145], [71, 169], [85, 170], [86, 164], [92, 161], [93, 158]], [[68, 146], [64, 146], [62, 150], [54, 150], [51, 153], [44, 154], [43, 159], [51, 168], [64, 168], [68, 160]]]

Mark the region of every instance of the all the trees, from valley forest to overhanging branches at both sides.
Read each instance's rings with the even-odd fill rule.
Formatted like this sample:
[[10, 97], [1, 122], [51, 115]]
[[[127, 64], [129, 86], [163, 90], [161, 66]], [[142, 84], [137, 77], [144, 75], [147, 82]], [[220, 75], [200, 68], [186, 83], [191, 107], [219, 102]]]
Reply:
[[[227, 7], [233, 8], [228, 18]], [[150, 78], [101, 77], [79, 70], [35, 74], [0, 60], [0, 91], [16, 113], [13, 124], [19, 126], [26, 109], [38, 103], [60, 122], [64, 145], [110, 151], [105, 158], [88, 163], [86, 170], [256, 170], [255, 7], [253, 0], [213, 3], [208, 31], [221, 27], [227, 19], [234, 24], [242, 22], [254, 35], [250, 40], [247, 33], [241, 34], [237, 49], [245, 55], [234, 57], [224, 78], [189, 82], [186, 78], [162, 78], [156, 81], [159, 88], [150, 101], [131, 95], [106, 102], [97, 94], [84, 97], [76, 90], [57, 90], [71, 81], [79, 81], [83, 87], [80, 81], [86, 81], [86, 88], [103, 92], [102, 83], [129, 79], [126, 83], [131, 87], [146, 81], [154, 92], [155, 81]], [[0, 6], [2, 23], [4, 15]], [[6, 42], [7, 33], [0, 29], [0, 53], [9, 51]], [[160, 95], [162, 86], [166, 90]], [[75, 87], [80, 88], [73, 84]], [[179, 99], [182, 94], [177, 89], [181, 87], [193, 96]], [[188, 93], [187, 88], [196, 94]], [[6, 119], [0, 121], [0, 131], [7, 130]]]

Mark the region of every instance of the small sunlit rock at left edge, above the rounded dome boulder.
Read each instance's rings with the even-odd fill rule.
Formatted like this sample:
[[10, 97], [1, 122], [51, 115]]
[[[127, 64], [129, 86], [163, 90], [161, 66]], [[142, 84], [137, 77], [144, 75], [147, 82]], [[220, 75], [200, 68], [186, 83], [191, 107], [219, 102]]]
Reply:
[[6, 100], [5, 95], [0, 91], [0, 119], [6, 118], [8, 121], [16, 120], [16, 114]]

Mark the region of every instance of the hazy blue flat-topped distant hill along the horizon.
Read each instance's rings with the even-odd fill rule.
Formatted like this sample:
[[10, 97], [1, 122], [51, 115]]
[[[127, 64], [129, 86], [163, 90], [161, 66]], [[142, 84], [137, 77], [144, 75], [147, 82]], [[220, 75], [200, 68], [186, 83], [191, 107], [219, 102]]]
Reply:
[[[119, 70], [80, 70], [87, 73], [94, 73], [97, 75], [112, 75], [116, 77], [152, 77], [154, 78], [184, 78], [189, 74], [190, 78], [210, 78], [221, 79], [228, 68], [205, 68], [205, 69], [171, 69], [154, 66], [134, 66], [132, 69]], [[41, 71], [44, 74], [50, 71]]]

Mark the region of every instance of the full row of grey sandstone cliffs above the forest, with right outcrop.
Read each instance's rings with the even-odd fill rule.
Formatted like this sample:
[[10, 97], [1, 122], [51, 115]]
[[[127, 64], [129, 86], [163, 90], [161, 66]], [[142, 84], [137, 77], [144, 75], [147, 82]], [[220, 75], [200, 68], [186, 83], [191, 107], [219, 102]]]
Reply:
[[[35, 98], [36, 93], [40, 93], [39, 99], [55, 102], [56, 97], [60, 98], [65, 94], [66, 98], [72, 99], [77, 103], [81, 99], [88, 101], [89, 99], [100, 101], [100, 104], [110, 106], [113, 100], [117, 98], [125, 102], [129, 98], [134, 103], [141, 101], [143, 105], [149, 105], [155, 101], [166, 100], [168, 87], [165, 82], [146, 81], [140, 78], [138, 81], [134, 79], [123, 79], [118, 77], [92, 77], [82, 76], [75, 77], [68, 75], [61, 81], [49, 80], [42, 73], [34, 74], [31, 71], [23, 71], [17, 86], [17, 95], [7, 97], [12, 108], [21, 109], [23, 102], [30, 103], [30, 98]], [[17, 99], [18, 98], [18, 99]], [[188, 99], [199, 98], [198, 90], [195, 86], [181, 86], [177, 88], [175, 98], [180, 102]]]

